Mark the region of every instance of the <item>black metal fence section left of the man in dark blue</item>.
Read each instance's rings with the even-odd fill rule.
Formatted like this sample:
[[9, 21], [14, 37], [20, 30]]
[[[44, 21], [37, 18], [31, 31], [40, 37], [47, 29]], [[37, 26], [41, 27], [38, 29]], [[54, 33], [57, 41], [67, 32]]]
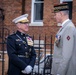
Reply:
[[0, 70], [2, 71], [1, 74], [5, 75], [5, 51], [6, 51], [6, 36], [9, 35], [9, 30], [5, 27], [1, 27], [0, 28], [0, 65], [2, 65], [2, 67], [0, 68]]

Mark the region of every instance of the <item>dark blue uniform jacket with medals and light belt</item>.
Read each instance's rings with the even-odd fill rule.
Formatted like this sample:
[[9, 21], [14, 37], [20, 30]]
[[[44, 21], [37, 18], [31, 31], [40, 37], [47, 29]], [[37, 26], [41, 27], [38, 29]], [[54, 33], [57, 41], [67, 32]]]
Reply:
[[24, 75], [21, 73], [26, 66], [32, 68], [35, 64], [36, 52], [33, 45], [28, 45], [29, 35], [19, 31], [7, 38], [7, 52], [9, 57], [8, 75]]

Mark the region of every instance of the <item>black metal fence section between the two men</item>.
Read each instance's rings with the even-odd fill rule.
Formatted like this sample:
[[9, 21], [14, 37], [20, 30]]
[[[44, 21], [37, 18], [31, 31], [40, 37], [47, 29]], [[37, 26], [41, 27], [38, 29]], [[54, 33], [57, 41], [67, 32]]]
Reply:
[[45, 35], [43, 38], [39, 35], [37, 39], [38, 42], [34, 39], [34, 47], [37, 52], [37, 57], [32, 75], [51, 75], [53, 50], [52, 38], [52, 35]]

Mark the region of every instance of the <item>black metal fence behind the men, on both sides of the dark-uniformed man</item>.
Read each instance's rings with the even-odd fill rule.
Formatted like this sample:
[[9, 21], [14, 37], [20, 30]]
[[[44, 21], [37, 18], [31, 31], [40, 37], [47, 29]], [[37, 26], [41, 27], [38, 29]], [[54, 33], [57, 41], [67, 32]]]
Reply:
[[[1, 29], [2, 30], [2, 29]], [[0, 31], [1, 31], [0, 30]], [[9, 30], [4, 28], [4, 33], [0, 32], [0, 46], [2, 51], [2, 75], [5, 75], [4, 66], [4, 51], [6, 51], [6, 37], [2, 35], [9, 35]], [[2, 35], [1, 35], [2, 34]], [[31, 75], [51, 75], [51, 64], [52, 64], [52, 43], [53, 36], [41, 36], [33, 35], [34, 47], [37, 53], [36, 63]]]

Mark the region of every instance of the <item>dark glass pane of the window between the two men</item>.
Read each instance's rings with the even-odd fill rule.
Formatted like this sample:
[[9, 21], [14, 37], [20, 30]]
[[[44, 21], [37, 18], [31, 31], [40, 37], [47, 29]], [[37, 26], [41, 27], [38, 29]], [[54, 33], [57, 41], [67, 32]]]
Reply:
[[34, 21], [43, 20], [43, 3], [35, 4], [35, 18]]

